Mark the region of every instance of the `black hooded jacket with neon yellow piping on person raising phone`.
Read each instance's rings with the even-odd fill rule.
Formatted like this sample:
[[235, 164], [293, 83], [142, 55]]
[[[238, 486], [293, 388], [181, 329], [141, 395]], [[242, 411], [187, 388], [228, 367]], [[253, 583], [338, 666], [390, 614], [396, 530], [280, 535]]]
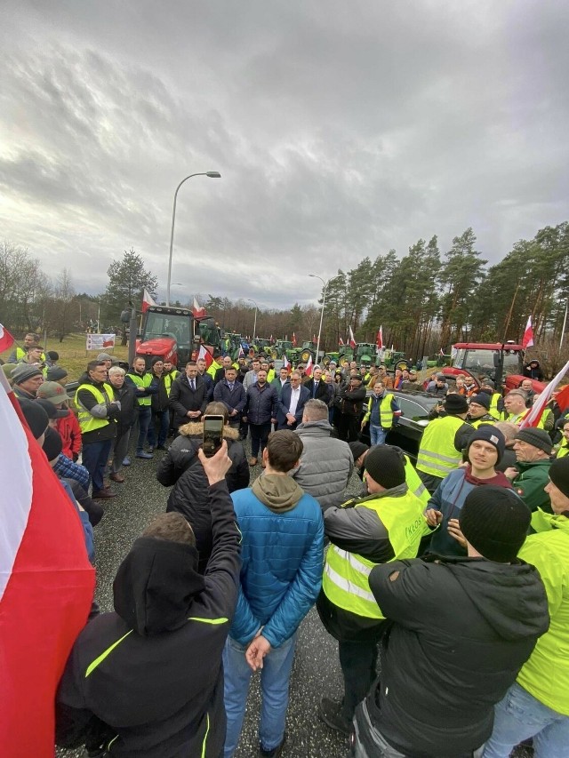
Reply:
[[219, 758], [221, 652], [236, 604], [239, 533], [227, 485], [214, 484], [209, 497], [205, 576], [195, 547], [148, 537], [119, 567], [115, 611], [85, 626], [60, 682], [60, 746], [80, 746], [91, 733], [112, 741], [118, 758]]

